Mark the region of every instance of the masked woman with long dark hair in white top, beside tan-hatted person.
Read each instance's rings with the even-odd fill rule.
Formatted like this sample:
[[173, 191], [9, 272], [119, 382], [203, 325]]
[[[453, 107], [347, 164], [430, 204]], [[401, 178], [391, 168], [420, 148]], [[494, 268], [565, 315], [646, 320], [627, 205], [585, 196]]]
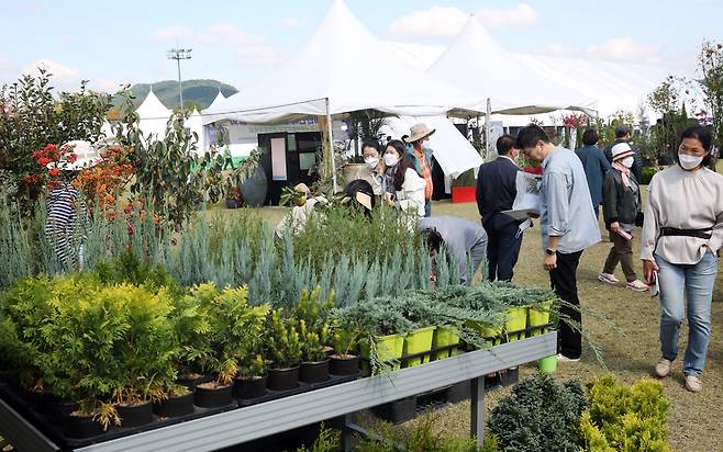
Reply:
[[414, 163], [399, 139], [392, 139], [387, 145], [385, 165], [387, 176], [393, 182], [393, 192], [387, 191], [387, 202], [403, 212], [424, 217], [426, 183], [414, 170]]

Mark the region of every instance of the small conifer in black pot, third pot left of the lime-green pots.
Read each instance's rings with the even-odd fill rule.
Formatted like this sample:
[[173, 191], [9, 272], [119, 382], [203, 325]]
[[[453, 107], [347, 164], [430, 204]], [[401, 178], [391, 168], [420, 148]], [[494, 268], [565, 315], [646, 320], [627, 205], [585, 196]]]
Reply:
[[271, 313], [266, 349], [271, 361], [267, 387], [271, 391], [288, 391], [299, 386], [299, 362], [301, 338], [294, 319], [282, 317], [282, 310]]

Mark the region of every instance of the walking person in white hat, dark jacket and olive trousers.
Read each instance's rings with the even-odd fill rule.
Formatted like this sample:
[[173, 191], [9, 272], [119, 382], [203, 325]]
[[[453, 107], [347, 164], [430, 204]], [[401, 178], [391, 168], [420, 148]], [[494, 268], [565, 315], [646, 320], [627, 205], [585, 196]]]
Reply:
[[637, 279], [633, 267], [633, 229], [642, 226], [641, 188], [631, 168], [635, 151], [627, 143], [612, 147], [612, 169], [605, 173], [602, 184], [602, 213], [613, 242], [602, 273], [598, 279], [608, 284], [620, 282], [614, 273], [620, 262], [632, 291], [646, 291], [647, 285]]

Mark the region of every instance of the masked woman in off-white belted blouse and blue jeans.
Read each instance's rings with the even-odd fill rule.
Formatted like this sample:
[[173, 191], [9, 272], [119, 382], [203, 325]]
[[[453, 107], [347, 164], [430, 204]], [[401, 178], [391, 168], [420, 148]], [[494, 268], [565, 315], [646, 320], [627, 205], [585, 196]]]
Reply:
[[711, 331], [711, 300], [723, 245], [723, 176], [709, 170], [712, 137], [693, 126], [682, 133], [677, 165], [653, 177], [648, 187], [641, 257], [648, 284], [660, 287], [659, 377], [670, 373], [687, 310], [686, 388], [702, 389]]

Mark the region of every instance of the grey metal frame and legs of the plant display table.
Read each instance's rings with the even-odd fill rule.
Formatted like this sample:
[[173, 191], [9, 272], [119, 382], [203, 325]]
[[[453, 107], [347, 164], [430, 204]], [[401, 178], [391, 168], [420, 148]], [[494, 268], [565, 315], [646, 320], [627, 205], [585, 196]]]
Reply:
[[[77, 452], [213, 451], [326, 419], [345, 417], [344, 449], [352, 447], [352, 415], [377, 405], [468, 381], [470, 434], [485, 439], [485, 375], [557, 352], [557, 334], [460, 353], [440, 361], [360, 378], [76, 449]], [[0, 436], [20, 451], [59, 451], [41, 431], [0, 400]]]

